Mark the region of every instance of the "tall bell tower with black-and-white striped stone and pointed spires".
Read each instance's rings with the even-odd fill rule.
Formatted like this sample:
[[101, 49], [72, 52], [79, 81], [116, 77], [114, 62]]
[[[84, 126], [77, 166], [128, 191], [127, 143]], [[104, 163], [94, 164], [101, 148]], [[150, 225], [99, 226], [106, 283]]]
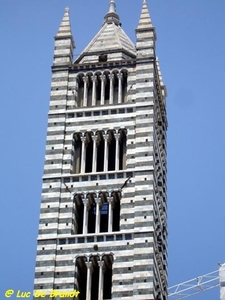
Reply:
[[166, 88], [146, 1], [136, 39], [111, 0], [73, 61], [65, 10], [55, 36], [36, 297], [167, 299]]

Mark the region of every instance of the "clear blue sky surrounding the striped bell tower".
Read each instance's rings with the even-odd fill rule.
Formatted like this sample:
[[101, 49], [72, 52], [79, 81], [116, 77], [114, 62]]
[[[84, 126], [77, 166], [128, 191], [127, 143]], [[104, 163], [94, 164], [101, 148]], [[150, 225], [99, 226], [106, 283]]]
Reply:
[[[54, 35], [66, 6], [79, 54], [109, 0], [0, 1], [0, 295], [32, 291]], [[135, 42], [142, 0], [117, 0]], [[225, 1], [148, 0], [168, 98], [169, 285], [225, 262]], [[219, 289], [190, 299], [219, 298]], [[13, 298], [12, 298], [13, 299]]]

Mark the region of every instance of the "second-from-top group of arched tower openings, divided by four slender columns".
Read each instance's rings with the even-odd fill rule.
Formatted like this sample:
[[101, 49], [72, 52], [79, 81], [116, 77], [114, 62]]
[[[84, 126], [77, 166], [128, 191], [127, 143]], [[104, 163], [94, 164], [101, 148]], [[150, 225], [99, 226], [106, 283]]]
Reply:
[[74, 134], [73, 172], [95, 173], [126, 169], [126, 130]]

